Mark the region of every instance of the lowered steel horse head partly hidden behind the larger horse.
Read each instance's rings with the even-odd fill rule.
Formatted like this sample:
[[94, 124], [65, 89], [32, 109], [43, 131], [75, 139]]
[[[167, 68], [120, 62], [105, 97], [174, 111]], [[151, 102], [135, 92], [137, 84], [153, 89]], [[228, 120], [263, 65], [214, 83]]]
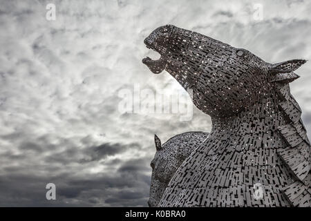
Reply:
[[161, 144], [157, 135], [154, 135], [156, 155], [150, 164], [152, 175], [149, 206], [158, 206], [171, 177], [208, 135], [209, 133], [195, 131], [181, 133], [171, 137], [164, 144]]

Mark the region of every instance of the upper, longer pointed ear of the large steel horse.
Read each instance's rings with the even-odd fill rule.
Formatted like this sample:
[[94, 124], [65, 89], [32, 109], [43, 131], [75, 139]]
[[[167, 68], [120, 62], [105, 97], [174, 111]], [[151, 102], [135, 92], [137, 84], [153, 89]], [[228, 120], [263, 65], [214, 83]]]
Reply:
[[283, 61], [280, 63], [272, 64], [270, 67], [270, 73], [292, 73], [294, 70], [299, 68], [301, 65], [307, 62], [305, 59], [294, 59], [289, 61]]

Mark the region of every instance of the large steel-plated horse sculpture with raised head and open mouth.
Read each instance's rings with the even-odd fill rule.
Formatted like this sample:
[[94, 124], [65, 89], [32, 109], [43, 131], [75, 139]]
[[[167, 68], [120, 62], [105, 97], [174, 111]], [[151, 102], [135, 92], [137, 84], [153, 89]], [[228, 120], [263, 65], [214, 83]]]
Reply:
[[194, 104], [212, 121], [209, 137], [178, 168], [159, 206], [310, 206], [310, 142], [289, 86], [305, 60], [270, 64], [171, 25], [144, 43], [161, 57], [142, 62], [191, 88]]

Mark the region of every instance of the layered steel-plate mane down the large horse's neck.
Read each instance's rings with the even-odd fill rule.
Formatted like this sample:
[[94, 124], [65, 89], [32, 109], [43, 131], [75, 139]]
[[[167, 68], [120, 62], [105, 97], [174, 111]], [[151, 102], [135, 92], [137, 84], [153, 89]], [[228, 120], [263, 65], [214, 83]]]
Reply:
[[[283, 192], [294, 206], [308, 198], [311, 181], [310, 142], [301, 120], [301, 108], [290, 93], [289, 83], [298, 77], [295, 73], [282, 73], [276, 74], [272, 79], [279, 95], [278, 108], [285, 118], [285, 125], [279, 126], [278, 131], [288, 144], [285, 148], [279, 148], [277, 153], [296, 177]], [[308, 203], [308, 200], [304, 202]]]

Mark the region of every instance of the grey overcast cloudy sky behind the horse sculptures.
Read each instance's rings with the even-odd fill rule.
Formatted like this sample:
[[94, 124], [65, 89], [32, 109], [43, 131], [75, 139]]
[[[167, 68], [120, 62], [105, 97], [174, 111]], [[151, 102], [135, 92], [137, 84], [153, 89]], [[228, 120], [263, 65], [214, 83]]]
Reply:
[[[54, 3], [56, 19], [46, 19]], [[263, 17], [258, 19], [258, 5]], [[120, 91], [182, 93], [141, 63], [143, 40], [171, 23], [265, 61], [311, 57], [310, 1], [9, 1], [0, 3], [0, 206], [147, 206], [155, 153], [207, 115], [124, 113]], [[291, 84], [311, 135], [311, 63]], [[141, 100], [139, 100], [142, 102]], [[137, 102], [137, 101], [136, 101]], [[57, 200], [46, 200], [46, 184]]]

